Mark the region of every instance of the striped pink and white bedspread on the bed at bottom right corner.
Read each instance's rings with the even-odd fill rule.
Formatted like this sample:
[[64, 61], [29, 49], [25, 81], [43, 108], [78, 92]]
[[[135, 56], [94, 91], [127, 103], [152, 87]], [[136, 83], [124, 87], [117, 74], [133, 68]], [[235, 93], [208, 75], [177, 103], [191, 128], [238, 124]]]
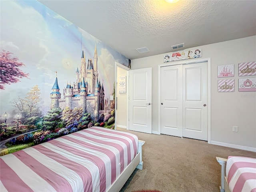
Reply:
[[231, 192], [256, 192], [256, 158], [229, 156], [226, 176]]

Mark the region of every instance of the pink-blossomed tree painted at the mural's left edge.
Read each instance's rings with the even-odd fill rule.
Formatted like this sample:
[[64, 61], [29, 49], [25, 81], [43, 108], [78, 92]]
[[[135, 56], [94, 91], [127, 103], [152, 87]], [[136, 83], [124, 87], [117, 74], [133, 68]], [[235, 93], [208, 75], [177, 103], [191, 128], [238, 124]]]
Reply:
[[16, 83], [20, 81], [20, 78], [29, 76], [19, 68], [25, 64], [19, 62], [18, 58], [11, 54], [13, 53], [6, 50], [0, 52], [0, 89], [5, 88], [4, 84]]

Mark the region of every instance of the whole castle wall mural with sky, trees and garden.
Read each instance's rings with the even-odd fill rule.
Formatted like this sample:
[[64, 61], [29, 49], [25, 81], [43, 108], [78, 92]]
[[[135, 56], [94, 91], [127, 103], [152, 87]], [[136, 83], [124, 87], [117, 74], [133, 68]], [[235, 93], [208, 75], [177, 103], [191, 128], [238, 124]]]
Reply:
[[113, 128], [115, 62], [130, 60], [40, 2], [2, 1], [0, 11], [0, 154]]

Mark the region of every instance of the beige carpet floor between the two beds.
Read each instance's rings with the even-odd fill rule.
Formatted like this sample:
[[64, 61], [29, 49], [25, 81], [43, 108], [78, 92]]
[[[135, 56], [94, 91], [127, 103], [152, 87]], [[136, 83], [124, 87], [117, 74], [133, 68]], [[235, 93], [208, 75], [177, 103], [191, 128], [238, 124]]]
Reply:
[[167, 135], [136, 134], [143, 146], [143, 170], [137, 170], [121, 192], [219, 192], [220, 164], [216, 156], [248, 156], [256, 153], [208, 144], [205, 141]]

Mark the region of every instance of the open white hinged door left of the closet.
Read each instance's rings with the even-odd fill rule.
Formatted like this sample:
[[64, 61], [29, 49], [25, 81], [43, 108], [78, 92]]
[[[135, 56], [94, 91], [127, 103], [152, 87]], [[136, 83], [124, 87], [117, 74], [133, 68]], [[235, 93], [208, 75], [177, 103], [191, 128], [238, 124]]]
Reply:
[[152, 133], [152, 68], [129, 71], [129, 130]]

